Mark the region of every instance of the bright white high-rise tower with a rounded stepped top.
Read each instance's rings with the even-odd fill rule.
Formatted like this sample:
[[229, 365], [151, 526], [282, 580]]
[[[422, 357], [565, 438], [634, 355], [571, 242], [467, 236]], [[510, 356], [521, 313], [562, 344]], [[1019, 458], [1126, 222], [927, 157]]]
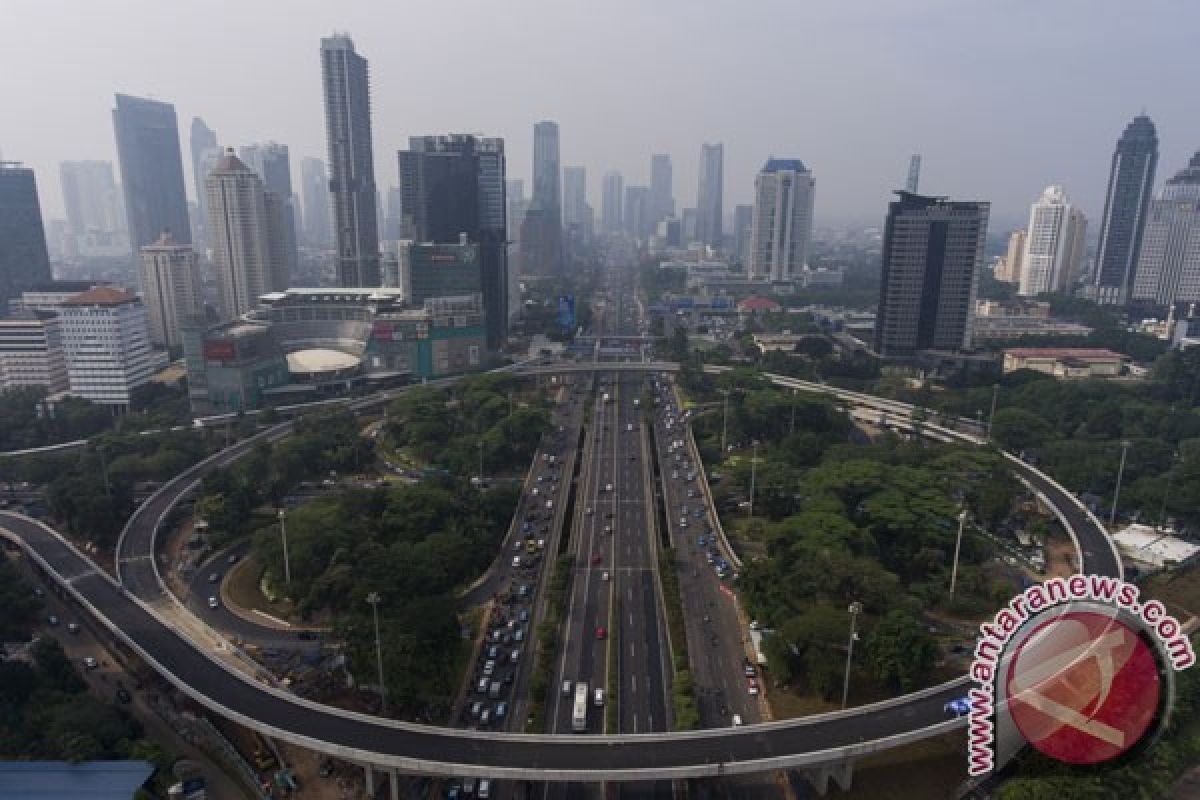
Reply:
[[1048, 186], [1030, 207], [1018, 294], [1062, 291], [1079, 277], [1087, 219], [1061, 186]]

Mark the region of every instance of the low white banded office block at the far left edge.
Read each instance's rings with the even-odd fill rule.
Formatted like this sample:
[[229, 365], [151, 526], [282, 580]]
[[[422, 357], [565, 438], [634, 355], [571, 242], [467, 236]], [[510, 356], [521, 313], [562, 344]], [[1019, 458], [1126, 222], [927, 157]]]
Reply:
[[0, 391], [19, 386], [44, 386], [49, 395], [66, 391], [58, 313], [23, 311], [0, 319]]

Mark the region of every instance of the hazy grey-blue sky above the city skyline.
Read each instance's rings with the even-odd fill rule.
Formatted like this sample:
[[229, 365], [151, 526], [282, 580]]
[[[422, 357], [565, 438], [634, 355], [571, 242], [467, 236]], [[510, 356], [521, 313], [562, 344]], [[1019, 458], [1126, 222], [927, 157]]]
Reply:
[[[695, 204], [700, 146], [725, 143], [726, 210], [770, 155], [816, 176], [817, 224], [882, 219], [908, 155], [922, 190], [994, 204], [992, 229], [1061, 182], [1096, 223], [1112, 145], [1146, 109], [1158, 182], [1200, 148], [1195, 0], [2, 0], [0, 152], [37, 170], [115, 162], [113, 92], [175, 104], [222, 144], [324, 157], [319, 38], [371, 64], [376, 172], [412, 134], [502, 136], [529, 187], [533, 124], [562, 130], [599, 215], [607, 169], [674, 162]], [[1094, 228], [1093, 228], [1094, 233]]]

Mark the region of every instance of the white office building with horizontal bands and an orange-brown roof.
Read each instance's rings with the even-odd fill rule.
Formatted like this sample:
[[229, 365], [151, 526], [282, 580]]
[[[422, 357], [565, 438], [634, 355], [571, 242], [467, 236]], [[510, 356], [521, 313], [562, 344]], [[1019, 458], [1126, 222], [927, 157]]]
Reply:
[[94, 403], [128, 407], [134, 389], [167, 366], [146, 330], [138, 296], [97, 287], [65, 301], [59, 309], [71, 393]]

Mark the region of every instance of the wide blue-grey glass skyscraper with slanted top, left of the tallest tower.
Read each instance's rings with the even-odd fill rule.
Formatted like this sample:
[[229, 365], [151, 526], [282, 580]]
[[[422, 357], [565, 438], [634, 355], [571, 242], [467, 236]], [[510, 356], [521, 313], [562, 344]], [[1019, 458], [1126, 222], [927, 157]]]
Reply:
[[133, 251], [156, 241], [163, 230], [182, 245], [192, 243], [175, 107], [116, 95], [113, 130]]

